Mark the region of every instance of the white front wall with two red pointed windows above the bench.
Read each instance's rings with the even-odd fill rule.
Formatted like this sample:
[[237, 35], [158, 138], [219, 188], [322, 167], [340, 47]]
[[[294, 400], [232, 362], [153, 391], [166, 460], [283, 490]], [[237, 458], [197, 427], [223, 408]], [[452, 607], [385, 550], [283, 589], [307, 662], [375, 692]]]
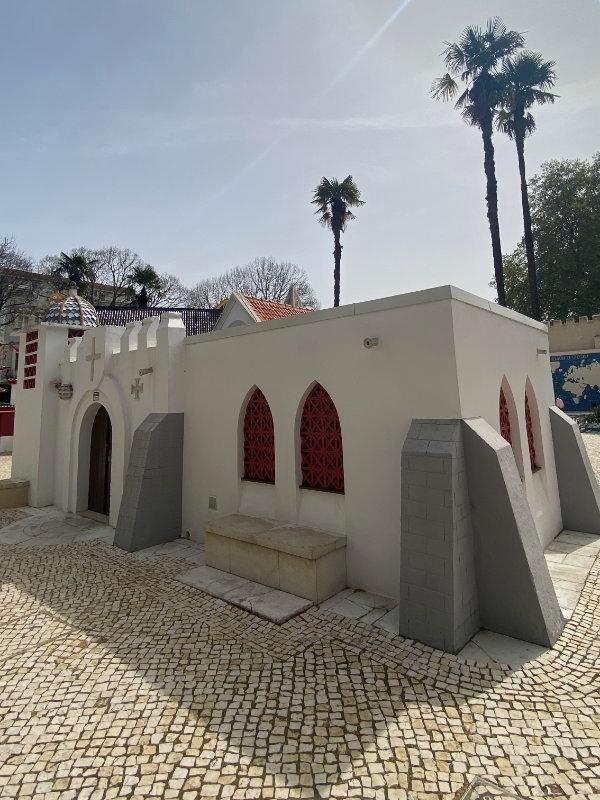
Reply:
[[[238, 510], [342, 531], [351, 584], [397, 594], [402, 443], [413, 417], [458, 414], [450, 302], [419, 304], [423, 294], [187, 340], [183, 518], [194, 538]], [[343, 496], [299, 488], [297, 426], [315, 381], [340, 417]], [[240, 480], [240, 411], [254, 386], [273, 414], [275, 486]]]

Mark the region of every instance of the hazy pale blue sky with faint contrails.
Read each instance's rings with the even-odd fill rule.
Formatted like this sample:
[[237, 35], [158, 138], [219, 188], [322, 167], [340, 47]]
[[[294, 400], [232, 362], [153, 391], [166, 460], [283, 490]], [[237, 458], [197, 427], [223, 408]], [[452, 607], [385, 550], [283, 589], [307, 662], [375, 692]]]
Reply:
[[[499, 15], [556, 62], [529, 174], [600, 149], [600, 0], [2, 0], [0, 236], [35, 259], [136, 250], [186, 285], [273, 255], [333, 301], [310, 200], [352, 174], [342, 303], [493, 297], [479, 133], [430, 97], [443, 42]], [[505, 252], [522, 235], [495, 137]]]

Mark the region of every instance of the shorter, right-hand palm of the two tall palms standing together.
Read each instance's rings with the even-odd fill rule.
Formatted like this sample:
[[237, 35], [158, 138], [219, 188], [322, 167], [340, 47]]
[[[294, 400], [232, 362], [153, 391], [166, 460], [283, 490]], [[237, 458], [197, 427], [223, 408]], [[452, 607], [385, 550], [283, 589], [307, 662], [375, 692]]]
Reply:
[[541, 53], [518, 53], [513, 58], [505, 60], [499, 77], [502, 82], [502, 108], [498, 112], [496, 124], [499, 131], [506, 133], [510, 139], [514, 140], [517, 148], [531, 315], [534, 319], [539, 320], [542, 311], [537, 285], [529, 192], [525, 171], [525, 138], [536, 128], [535, 119], [529, 109], [535, 103], [541, 105], [553, 103], [556, 98], [555, 94], [548, 91], [556, 82], [554, 62], [544, 61]]

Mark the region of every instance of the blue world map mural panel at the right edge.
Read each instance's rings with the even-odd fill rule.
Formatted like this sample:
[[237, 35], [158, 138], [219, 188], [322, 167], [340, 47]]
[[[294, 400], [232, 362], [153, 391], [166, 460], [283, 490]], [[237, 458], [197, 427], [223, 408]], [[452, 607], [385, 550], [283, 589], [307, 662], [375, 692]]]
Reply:
[[550, 356], [554, 394], [567, 413], [581, 414], [600, 406], [600, 352]]

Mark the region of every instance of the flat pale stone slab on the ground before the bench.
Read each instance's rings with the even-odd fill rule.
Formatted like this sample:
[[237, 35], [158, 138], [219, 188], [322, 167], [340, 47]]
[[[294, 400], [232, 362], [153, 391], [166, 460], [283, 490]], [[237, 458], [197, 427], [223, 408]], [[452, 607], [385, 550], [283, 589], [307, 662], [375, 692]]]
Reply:
[[276, 625], [282, 625], [313, 605], [303, 597], [272, 589], [213, 567], [195, 567], [177, 575], [175, 580], [250, 611]]

